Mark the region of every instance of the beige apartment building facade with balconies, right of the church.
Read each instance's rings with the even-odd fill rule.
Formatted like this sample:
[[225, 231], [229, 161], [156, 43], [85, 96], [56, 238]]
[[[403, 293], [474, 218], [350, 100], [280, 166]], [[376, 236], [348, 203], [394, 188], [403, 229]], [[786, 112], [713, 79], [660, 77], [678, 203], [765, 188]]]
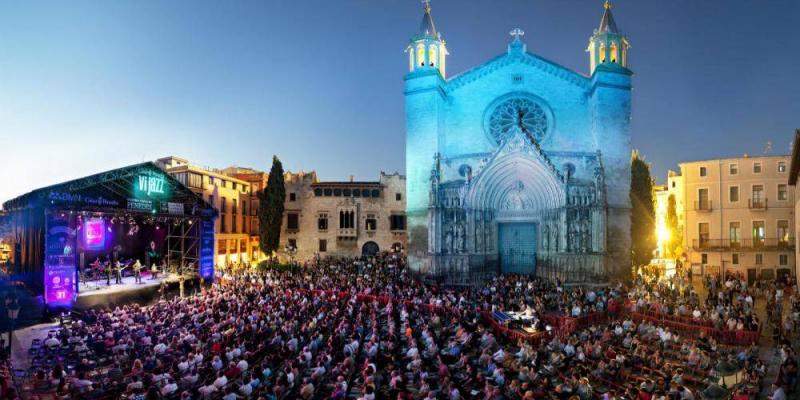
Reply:
[[795, 275], [795, 195], [789, 156], [692, 161], [670, 171], [686, 261], [694, 272], [748, 281]]

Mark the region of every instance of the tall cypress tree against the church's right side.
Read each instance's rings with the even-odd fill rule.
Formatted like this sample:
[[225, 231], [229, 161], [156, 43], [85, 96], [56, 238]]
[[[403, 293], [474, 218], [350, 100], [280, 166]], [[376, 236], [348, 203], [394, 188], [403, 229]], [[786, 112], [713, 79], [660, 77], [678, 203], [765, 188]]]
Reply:
[[633, 267], [646, 265], [656, 248], [655, 204], [650, 166], [639, 156], [631, 157], [631, 261]]

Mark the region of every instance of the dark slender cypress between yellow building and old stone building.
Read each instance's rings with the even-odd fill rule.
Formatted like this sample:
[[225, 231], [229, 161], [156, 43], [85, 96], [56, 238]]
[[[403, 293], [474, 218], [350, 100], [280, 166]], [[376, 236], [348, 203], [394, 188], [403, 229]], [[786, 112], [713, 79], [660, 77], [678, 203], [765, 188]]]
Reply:
[[286, 186], [283, 182], [283, 165], [278, 156], [272, 156], [267, 186], [258, 193], [258, 235], [261, 251], [271, 256], [281, 242]]

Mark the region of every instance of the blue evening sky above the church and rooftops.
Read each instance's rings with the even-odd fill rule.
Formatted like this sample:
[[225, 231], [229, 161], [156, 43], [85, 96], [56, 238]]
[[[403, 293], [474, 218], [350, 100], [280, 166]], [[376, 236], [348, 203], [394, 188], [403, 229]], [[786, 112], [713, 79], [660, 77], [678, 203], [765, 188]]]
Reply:
[[[581, 73], [593, 0], [434, 0], [450, 75], [528, 49]], [[633, 143], [679, 161], [787, 153], [800, 127], [800, 2], [619, 0]], [[404, 169], [417, 0], [0, 1], [0, 201], [165, 155], [376, 179]]]

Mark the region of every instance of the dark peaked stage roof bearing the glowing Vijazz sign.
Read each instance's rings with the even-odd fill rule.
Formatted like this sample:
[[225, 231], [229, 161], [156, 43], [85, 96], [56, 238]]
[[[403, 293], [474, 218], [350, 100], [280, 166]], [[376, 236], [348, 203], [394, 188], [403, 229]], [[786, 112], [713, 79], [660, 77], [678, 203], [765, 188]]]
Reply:
[[159, 215], [215, 214], [202, 197], [152, 162], [36, 189], [3, 203], [3, 209], [12, 213], [51, 207]]

